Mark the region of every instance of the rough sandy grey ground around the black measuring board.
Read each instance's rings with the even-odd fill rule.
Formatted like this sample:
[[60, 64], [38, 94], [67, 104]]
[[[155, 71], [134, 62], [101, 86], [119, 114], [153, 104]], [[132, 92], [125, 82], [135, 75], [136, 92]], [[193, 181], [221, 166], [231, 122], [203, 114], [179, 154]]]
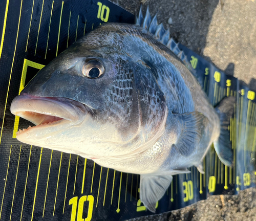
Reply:
[[[138, 13], [140, 0], [112, 0]], [[184, 46], [213, 62], [256, 91], [256, 0], [144, 0], [143, 10], [158, 12], [158, 21]], [[172, 24], [168, 19], [172, 18]], [[170, 19], [169, 19], [170, 20]], [[256, 220], [256, 190], [210, 196], [186, 208], [138, 220]]]

